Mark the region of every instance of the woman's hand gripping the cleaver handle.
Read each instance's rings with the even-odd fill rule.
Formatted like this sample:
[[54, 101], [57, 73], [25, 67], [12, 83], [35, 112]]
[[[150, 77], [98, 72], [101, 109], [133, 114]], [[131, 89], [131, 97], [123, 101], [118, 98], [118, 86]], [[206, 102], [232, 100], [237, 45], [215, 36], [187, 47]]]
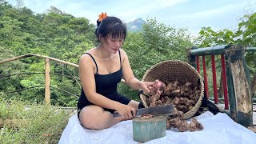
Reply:
[[136, 110], [134, 109], [134, 107], [121, 103], [120, 105], [118, 105], [118, 108], [116, 110], [118, 111], [118, 114], [122, 115], [126, 119], [132, 119], [136, 114]]

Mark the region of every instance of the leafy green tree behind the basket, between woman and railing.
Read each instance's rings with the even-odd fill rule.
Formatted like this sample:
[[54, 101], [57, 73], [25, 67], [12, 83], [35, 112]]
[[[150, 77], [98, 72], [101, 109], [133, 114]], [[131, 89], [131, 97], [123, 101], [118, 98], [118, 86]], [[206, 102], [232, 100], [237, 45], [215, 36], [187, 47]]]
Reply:
[[[151, 66], [168, 59], [186, 61], [186, 48], [192, 46], [192, 38], [186, 29], [175, 29], [148, 19], [142, 31], [130, 32], [122, 48], [130, 60], [136, 78], [141, 79]], [[120, 93], [138, 99], [138, 91], [119, 86]]]

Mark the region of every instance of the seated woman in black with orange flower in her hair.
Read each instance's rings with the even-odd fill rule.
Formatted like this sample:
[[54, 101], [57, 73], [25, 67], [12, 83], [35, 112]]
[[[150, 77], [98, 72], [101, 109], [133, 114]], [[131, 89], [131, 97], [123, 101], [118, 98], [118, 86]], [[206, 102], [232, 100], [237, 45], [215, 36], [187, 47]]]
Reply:
[[[95, 34], [100, 45], [83, 54], [79, 60], [82, 94], [78, 100], [78, 118], [88, 129], [105, 129], [134, 117], [142, 103], [118, 94], [117, 84], [123, 78], [134, 90], [150, 92], [153, 82], [134, 78], [126, 52], [126, 26], [116, 17], [99, 15]], [[113, 118], [114, 111], [120, 117]]]

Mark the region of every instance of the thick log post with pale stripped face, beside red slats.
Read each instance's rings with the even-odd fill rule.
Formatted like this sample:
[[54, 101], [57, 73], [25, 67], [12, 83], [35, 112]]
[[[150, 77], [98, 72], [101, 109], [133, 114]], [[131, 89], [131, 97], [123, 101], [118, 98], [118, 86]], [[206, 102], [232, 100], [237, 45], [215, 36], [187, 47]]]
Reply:
[[230, 46], [226, 50], [226, 75], [230, 100], [230, 117], [242, 126], [253, 126], [253, 103], [245, 47]]

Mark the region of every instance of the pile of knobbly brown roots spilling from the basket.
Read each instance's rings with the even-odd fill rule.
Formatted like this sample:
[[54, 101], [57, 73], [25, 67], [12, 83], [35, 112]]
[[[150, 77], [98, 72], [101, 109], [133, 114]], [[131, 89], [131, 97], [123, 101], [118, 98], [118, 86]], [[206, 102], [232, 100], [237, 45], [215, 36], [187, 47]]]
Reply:
[[[144, 93], [145, 94], [145, 93]], [[171, 127], [177, 128], [179, 131], [196, 131], [202, 130], [203, 126], [195, 118], [188, 123], [183, 114], [191, 110], [198, 102], [200, 97], [200, 88], [193, 86], [191, 82], [160, 82], [154, 81], [154, 85], [150, 87], [150, 94], [147, 99], [147, 106], [163, 106], [173, 104], [175, 114], [167, 117], [166, 129]]]

